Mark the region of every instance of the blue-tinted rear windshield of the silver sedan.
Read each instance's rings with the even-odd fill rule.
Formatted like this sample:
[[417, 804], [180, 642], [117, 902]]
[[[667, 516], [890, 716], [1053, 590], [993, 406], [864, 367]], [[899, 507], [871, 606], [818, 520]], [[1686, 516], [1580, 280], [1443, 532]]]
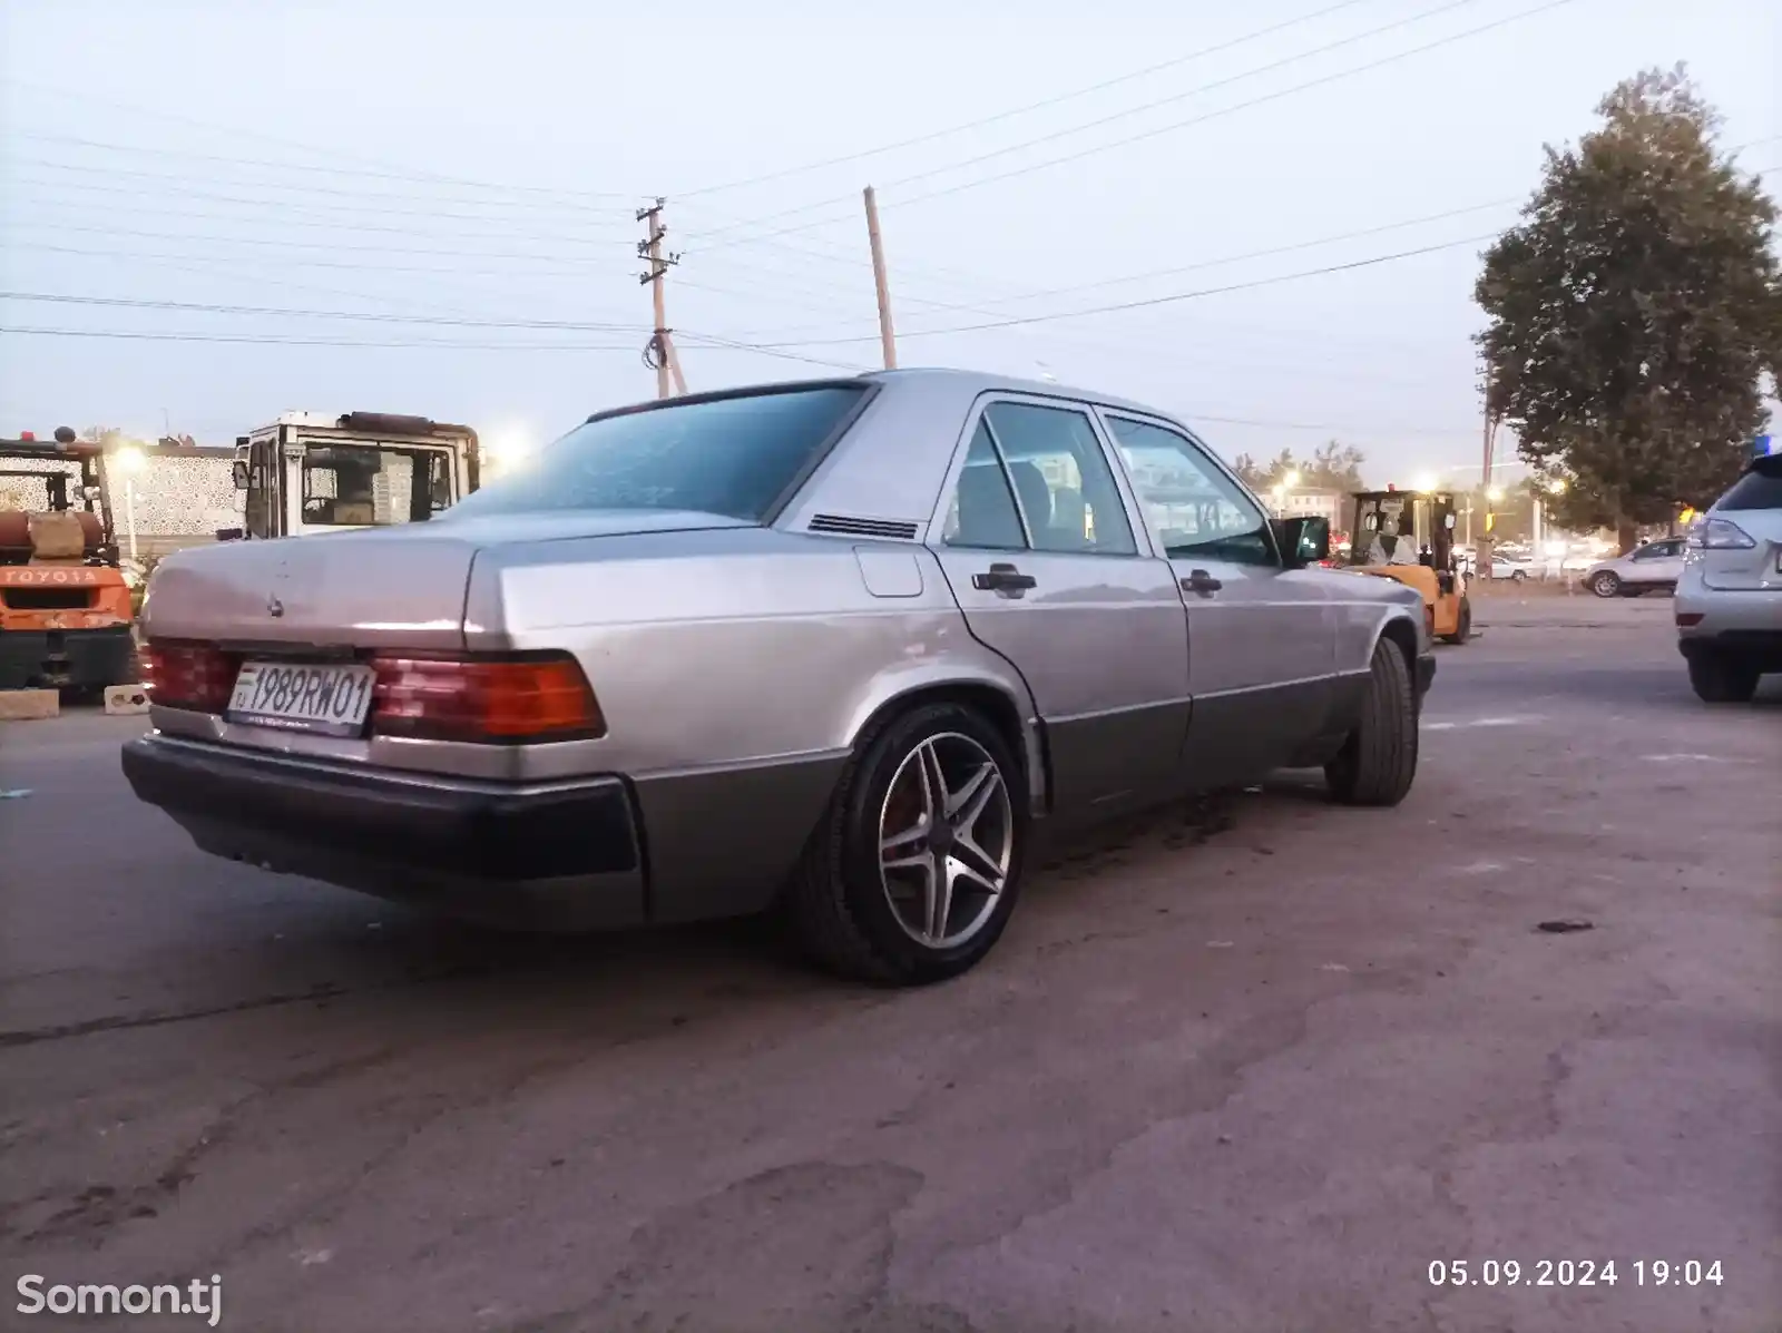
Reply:
[[451, 513], [691, 510], [761, 522], [862, 392], [823, 385], [590, 421]]

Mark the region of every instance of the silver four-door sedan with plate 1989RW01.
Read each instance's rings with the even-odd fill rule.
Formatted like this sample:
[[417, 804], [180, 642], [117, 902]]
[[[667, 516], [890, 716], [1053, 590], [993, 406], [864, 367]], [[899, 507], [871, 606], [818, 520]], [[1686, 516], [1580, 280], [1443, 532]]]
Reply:
[[166, 560], [123, 766], [255, 866], [535, 928], [779, 907], [845, 975], [936, 980], [1041, 836], [1281, 766], [1406, 795], [1422, 601], [1328, 544], [1050, 383], [649, 403], [428, 524]]

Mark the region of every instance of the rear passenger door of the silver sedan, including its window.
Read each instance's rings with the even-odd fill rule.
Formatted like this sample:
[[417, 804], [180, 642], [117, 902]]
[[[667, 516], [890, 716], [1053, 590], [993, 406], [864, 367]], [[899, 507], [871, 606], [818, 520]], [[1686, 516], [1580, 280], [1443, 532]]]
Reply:
[[[1155, 797], [1176, 772], [1187, 727], [1181, 597], [1165, 561], [1135, 554], [1112, 472], [1096, 476], [1108, 462], [1089, 415], [1018, 405], [1030, 412], [1001, 413], [1010, 458], [993, 429], [1007, 405], [993, 401], [973, 429], [936, 556], [973, 636], [1034, 695], [1055, 813], [1092, 820]], [[1076, 549], [1035, 551], [1035, 536]]]

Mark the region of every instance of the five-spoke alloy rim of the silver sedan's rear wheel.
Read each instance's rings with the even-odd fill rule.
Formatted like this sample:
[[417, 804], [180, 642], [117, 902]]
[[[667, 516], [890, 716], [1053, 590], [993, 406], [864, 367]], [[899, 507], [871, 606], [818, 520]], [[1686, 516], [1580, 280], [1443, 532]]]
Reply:
[[1014, 859], [1014, 807], [996, 759], [959, 732], [925, 738], [879, 811], [879, 879], [916, 943], [944, 950], [996, 911]]

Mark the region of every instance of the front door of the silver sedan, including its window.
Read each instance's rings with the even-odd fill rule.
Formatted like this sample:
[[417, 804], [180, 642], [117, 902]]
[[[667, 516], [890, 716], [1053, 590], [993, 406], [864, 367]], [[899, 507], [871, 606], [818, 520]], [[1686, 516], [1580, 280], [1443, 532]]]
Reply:
[[1320, 577], [1281, 567], [1267, 513], [1199, 444], [1162, 422], [1103, 417], [1181, 586], [1192, 697], [1183, 781], [1253, 781], [1324, 729], [1335, 606]]

